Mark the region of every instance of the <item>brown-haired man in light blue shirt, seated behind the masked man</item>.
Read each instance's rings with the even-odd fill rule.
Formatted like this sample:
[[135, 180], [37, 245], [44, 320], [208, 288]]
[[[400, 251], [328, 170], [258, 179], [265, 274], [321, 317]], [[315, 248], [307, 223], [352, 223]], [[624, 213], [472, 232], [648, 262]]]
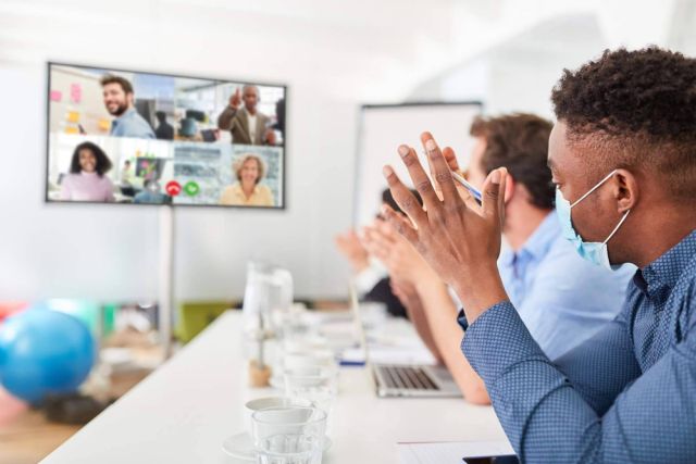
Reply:
[[[633, 273], [593, 266], [563, 239], [554, 213], [555, 188], [547, 166], [551, 128], [550, 122], [531, 114], [476, 120], [471, 127], [475, 145], [469, 180], [481, 187], [488, 173], [500, 166], [508, 168], [502, 234], [510, 248], [498, 260], [498, 268], [532, 337], [547, 356], [556, 359], [613, 319]], [[457, 170], [453, 152], [446, 149], [445, 153], [450, 167]], [[459, 350], [461, 329], [451, 324], [458, 308], [445, 284], [413, 247], [388, 229], [378, 226], [366, 230], [365, 246], [389, 269], [410, 318], [426, 346], [436, 348], [433, 354], [445, 361], [465, 399], [488, 403], [483, 380]], [[419, 315], [421, 311], [424, 317]]]

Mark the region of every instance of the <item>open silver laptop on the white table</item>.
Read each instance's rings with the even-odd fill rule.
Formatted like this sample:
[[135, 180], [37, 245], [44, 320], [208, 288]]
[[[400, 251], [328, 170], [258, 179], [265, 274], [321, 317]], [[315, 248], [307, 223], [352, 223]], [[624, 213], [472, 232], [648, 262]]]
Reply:
[[358, 291], [350, 283], [350, 308], [353, 313], [365, 365], [372, 373], [380, 398], [461, 398], [461, 391], [446, 367], [428, 364], [377, 364], [370, 362], [370, 350], [360, 314]]

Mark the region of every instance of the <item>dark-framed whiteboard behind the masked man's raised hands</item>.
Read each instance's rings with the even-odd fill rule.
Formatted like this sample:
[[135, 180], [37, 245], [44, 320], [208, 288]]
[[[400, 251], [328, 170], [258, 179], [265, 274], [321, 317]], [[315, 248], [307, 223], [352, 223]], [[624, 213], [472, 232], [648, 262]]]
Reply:
[[413, 147], [421, 162], [426, 163], [420, 141], [421, 133], [428, 130], [442, 148], [451, 147], [460, 166], [465, 168], [473, 145], [469, 128], [481, 111], [482, 104], [478, 102], [362, 106], [356, 167], [355, 226], [371, 223], [380, 211], [382, 191], [387, 187], [382, 176], [385, 164], [391, 165], [399, 178], [409, 187], [412, 186], [397, 148], [401, 143]]

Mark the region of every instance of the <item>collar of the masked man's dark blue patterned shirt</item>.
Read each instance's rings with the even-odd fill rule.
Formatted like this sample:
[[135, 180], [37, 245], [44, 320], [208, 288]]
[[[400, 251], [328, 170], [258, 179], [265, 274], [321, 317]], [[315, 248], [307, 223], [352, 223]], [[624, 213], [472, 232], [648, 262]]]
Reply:
[[639, 269], [634, 283], [648, 298], [671, 290], [686, 266], [696, 256], [696, 230], [692, 230], [679, 243], [672, 247], [650, 264]]

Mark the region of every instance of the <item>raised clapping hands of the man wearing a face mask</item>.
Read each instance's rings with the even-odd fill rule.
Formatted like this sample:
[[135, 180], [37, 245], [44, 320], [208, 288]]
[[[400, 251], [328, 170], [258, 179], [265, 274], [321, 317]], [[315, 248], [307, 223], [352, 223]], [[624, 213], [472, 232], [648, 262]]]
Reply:
[[455, 288], [469, 322], [473, 323], [483, 311], [507, 300], [496, 266], [500, 254], [507, 171], [499, 168], [488, 175], [483, 186], [483, 204], [478, 208], [471, 198], [461, 198], [450, 167], [433, 136], [423, 133], [421, 141], [442, 199], [415, 151], [402, 145], [399, 154], [425, 208], [419, 205], [394, 170], [385, 166], [383, 174], [391, 195], [411, 222], [386, 205], [383, 206], [383, 215], [440, 278]]

